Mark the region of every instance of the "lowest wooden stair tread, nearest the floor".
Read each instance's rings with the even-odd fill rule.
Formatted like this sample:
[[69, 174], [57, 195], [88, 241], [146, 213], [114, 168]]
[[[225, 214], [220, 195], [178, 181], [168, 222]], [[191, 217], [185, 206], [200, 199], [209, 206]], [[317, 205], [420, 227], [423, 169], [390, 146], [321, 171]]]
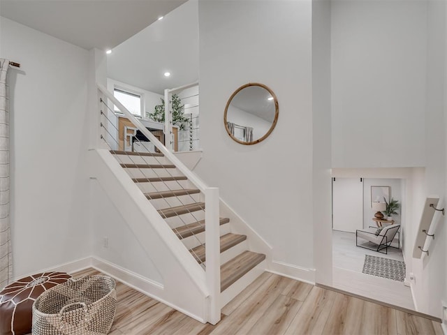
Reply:
[[263, 260], [265, 260], [263, 253], [244, 251], [232, 260], [221, 265], [221, 292], [226, 290], [231, 284], [235, 283]]

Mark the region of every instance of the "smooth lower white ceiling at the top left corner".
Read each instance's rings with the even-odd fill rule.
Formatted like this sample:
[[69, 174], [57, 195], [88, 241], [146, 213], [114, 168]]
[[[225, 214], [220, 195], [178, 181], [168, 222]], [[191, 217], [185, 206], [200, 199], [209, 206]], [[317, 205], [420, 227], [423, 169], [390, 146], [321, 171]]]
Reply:
[[185, 1], [1, 0], [0, 15], [87, 50], [105, 50]]

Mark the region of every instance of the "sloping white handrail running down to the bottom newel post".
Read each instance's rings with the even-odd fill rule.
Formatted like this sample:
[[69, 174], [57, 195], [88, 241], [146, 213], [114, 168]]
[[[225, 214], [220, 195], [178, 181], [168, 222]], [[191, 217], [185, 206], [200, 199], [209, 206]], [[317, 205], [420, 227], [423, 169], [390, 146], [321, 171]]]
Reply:
[[157, 140], [157, 138], [150, 131], [148, 131], [147, 128], [143, 126], [142, 123], [131, 112], [129, 112], [129, 110], [126, 109], [126, 107], [122, 105], [122, 103], [117, 101], [117, 98], [115, 98], [115, 96], [113, 96], [108, 89], [106, 89], [102, 84], [97, 83], [96, 86], [98, 87], [99, 91], [101, 91], [102, 94], [112, 101], [112, 103], [119, 108], [127, 119], [131, 120], [135, 127], [138, 128], [138, 130], [141, 131], [141, 133], [145, 135], [155, 145], [155, 147], [159, 149], [161, 153], [163, 153], [166, 158], [168, 158], [168, 160], [171, 161], [177, 169], [179, 169], [180, 172], [182, 172], [182, 174], [189, 179], [189, 181], [191, 181], [202, 193], [205, 193], [207, 185], [205, 185], [205, 183], [200, 180], [196, 174], [193, 174], [191, 170], [186, 168], [186, 165], [179, 161], [179, 159], [172, 152], [166, 149], [166, 147], [159, 140]]

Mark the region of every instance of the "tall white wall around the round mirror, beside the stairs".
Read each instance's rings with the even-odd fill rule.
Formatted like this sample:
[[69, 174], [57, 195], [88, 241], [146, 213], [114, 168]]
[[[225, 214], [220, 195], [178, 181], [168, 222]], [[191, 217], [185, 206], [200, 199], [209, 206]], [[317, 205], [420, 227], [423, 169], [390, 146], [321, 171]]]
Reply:
[[[311, 1], [199, 1], [200, 142], [195, 172], [273, 247], [273, 260], [313, 269]], [[261, 82], [279, 119], [263, 142], [233, 141], [223, 111]], [[329, 180], [330, 181], [330, 180]]]

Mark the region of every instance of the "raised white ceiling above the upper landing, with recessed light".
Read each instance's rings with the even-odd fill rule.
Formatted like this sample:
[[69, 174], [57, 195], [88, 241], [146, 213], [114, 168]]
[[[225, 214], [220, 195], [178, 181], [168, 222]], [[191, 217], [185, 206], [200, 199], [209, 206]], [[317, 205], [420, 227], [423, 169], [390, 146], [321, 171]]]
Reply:
[[198, 81], [198, 1], [183, 3], [113, 48], [107, 64], [108, 77], [158, 94]]

